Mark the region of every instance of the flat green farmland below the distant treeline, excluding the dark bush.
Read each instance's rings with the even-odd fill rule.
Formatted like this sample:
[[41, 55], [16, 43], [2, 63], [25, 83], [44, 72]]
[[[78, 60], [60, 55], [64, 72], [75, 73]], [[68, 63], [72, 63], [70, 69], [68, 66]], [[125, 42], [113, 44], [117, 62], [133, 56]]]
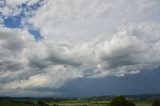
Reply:
[[[3, 99], [0, 106], [110, 106], [111, 100], [95, 98], [56, 98], [56, 99]], [[152, 100], [133, 100], [135, 106], [152, 106]]]

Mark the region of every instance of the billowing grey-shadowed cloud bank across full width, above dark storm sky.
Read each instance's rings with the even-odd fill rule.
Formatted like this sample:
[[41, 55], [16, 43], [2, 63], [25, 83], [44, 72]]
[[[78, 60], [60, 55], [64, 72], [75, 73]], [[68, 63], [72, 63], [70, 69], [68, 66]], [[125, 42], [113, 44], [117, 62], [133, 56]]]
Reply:
[[[148, 31], [148, 25], [154, 28]], [[125, 76], [158, 67], [160, 43], [154, 37], [159, 39], [160, 25], [138, 26], [81, 45], [34, 42], [25, 30], [1, 28], [1, 89], [57, 89], [79, 78]], [[146, 39], [152, 29], [156, 33]]]

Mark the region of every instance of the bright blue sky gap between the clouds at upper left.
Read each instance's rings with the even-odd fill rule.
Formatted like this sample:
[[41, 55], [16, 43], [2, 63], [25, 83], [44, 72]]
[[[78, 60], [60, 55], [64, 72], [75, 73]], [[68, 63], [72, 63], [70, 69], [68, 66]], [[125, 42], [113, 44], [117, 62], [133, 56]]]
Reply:
[[[5, 1], [2, 3], [0, 2], [0, 6], [4, 6]], [[35, 38], [36, 41], [39, 41], [43, 39], [43, 37], [40, 34], [40, 31], [37, 30], [33, 25], [29, 25], [27, 23], [22, 24], [22, 20], [24, 18], [33, 17], [35, 15], [35, 12], [43, 5], [43, 0], [39, 0], [37, 3], [28, 6], [26, 4], [21, 4], [18, 6], [18, 8], [21, 8], [22, 11], [16, 15], [16, 16], [3, 16], [2, 13], [0, 13], [0, 18], [4, 21], [4, 26], [7, 28], [25, 28], [28, 30], [28, 32]], [[29, 26], [28, 26], [29, 25]], [[27, 26], [27, 27], [24, 27]]]

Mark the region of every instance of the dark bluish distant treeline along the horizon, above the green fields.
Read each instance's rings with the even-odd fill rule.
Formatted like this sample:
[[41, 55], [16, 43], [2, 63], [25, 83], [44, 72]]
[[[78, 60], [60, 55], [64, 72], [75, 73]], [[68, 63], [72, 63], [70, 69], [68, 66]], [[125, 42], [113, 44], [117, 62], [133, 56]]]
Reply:
[[[160, 94], [144, 94], [144, 95], [121, 95], [125, 98], [128, 99], [133, 99], [133, 100], [154, 100], [157, 98], [160, 98]], [[0, 101], [1, 100], [10, 100], [10, 101], [37, 101], [37, 100], [45, 100], [45, 101], [68, 101], [68, 100], [77, 100], [77, 99], [81, 99], [81, 100], [87, 100], [87, 101], [91, 101], [91, 100], [112, 100], [114, 97], [114, 95], [109, 95], [109, 96], [93, 96], [93, 97], [7, 97], [7, 96], [1, 96], [0, 97]]]

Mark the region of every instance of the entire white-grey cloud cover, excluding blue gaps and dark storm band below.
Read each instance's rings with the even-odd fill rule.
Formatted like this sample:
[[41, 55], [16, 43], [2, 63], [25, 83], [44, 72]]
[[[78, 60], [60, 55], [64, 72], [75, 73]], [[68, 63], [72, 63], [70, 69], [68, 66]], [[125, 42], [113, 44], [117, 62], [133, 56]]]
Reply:
[[[15, 7], [22, 4], [14, 0], [6, 2], [8, 5], [17, 3]], [[123, 7], [124, 2], [130, 7]], [[30, 23], [40, 29], [44, 37], [40, 41], [35, 41], [25, 28], [0, 26], [0, 92], [19, 90], [21, 95], [26, 92], [37, 95], [36, 92], [44, 90], [42, 95], [49, 92], [54, 95], [54, 90], [72, 80], [123, 77], [159, 67], [158, 18], [136, 16], [151, 14], [142, 14], [149, 11], [147, 9], [156, 13], [154, 9], [159, 7], [159, 1], [118, 3], [110, 0], [45, 1], [33, 17], [22, 20], [24, 25]], [[115, 6], [125, 11], [118, 11]], [[137, 7], [135, 12], [134, 7]], [[135, 19], [129, 16], [130, 12]]]

